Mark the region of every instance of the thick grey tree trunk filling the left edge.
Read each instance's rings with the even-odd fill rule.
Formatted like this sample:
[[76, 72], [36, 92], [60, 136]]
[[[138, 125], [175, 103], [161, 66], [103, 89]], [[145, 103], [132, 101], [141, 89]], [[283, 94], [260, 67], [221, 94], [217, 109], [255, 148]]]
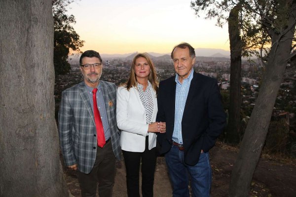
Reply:
[[0, 4], [0, 196], [69, 196], [54, 119], [52, 0]]

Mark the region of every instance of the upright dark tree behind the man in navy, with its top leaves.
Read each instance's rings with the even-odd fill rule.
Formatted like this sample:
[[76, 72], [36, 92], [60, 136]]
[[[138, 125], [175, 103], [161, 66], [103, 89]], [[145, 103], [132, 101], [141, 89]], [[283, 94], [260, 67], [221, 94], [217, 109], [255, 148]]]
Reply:
[[[226, 141], [231, 144], [238, 144], [241, 140], [240, 133], [240, 111], [241, 111], [241, 58], [245, 56], [247, 48], [245, 43], [244, 29], [241, 17], [241, 5], [233, 4], [223, 7], [222, 2], [211, 0], [191, 1], [191, 8], [199, 16], [201, 11], [208, 10], [206, 18], [216, 18], [217, 25], [222, 27], [228, 22], [228, 33], [230, 41], [230, 103], [228, 111], [228, 124], [226, 127]], [[228, 17], [227, 17], [228, 16]], [[244, 52], [243, 52], [244, 51]]]

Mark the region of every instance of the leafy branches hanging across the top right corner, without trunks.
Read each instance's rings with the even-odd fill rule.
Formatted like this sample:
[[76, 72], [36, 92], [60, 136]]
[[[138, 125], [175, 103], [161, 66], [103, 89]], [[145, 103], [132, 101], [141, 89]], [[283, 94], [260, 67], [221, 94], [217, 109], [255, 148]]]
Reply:
[[288, 31], [285, 13], [291, 4], [292, 0], [194, 0], [191, 1], [191, 8], [197, 16], [205, 12], [205, 18], [217, 18], [217, 26], [222, 27], [227, 23], [230, 10], [236, 5], [240, 6], [239, 28], [244, 46], [243, 56], [257, 55], [262, 57], [264, 63], [264, 56], [271, 45], [270, 30], [277, 34]]

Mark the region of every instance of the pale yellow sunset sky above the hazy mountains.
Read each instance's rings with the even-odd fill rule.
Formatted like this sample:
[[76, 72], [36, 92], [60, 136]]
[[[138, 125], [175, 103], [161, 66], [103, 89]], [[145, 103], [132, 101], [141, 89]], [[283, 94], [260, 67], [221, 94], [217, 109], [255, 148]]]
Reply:
[[82, 51], [170, 53], [180, 42], [229, 50], [227, 24], [198, 18], [190, 0], [76, 0], [70, 7]]

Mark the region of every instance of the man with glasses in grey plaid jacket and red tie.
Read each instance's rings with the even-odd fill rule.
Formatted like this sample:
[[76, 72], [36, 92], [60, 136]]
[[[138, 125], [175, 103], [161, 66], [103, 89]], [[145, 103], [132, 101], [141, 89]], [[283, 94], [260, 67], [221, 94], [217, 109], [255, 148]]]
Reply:
[[100, 81], [102, 58], [93, 50], [79, 60], [84, 81], [62, 92], [60, 145], [65, 165], [77, 170], [82, 197], [111, 197], [115, 158], [120, 160], [116, 86]]

